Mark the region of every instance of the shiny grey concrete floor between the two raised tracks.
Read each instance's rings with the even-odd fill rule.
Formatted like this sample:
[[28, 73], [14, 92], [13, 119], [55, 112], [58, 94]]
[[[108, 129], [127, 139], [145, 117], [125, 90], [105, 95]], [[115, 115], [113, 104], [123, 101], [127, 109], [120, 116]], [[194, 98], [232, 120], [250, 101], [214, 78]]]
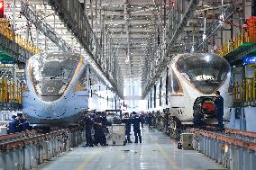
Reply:
[[[134, 139], [132, 138], [134, 141]], [[157, 130], [142, 129], [142, 144], [86, 148], [83, 145], [39, 166], [40, 170], [224, 169], [193, 150], [178, 150], [176, 141]]]

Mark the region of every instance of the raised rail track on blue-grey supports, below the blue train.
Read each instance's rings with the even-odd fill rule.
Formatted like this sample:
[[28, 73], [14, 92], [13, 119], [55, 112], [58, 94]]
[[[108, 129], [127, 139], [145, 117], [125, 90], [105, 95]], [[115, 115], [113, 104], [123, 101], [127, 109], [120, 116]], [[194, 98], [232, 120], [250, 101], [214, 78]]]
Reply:
[[[31, 169], [60, 153], [81, 144], [85, 131], [81, 127], [51, 130], [29, 130], [0, 136], [0, 169]], [[6, 159], [12, 157], [12, 161]]]

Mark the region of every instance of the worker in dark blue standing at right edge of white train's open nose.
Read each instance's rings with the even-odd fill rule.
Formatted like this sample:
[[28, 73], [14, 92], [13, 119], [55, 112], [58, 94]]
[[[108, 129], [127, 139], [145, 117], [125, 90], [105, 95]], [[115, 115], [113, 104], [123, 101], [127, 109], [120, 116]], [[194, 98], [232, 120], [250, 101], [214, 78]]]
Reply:
[[215, 92], [215, 114], [218, 121], [218, 127], [220, 129], [224, 128], [223, 116], [224, 116], [224, 98], [221, 96], [219, 91]]

